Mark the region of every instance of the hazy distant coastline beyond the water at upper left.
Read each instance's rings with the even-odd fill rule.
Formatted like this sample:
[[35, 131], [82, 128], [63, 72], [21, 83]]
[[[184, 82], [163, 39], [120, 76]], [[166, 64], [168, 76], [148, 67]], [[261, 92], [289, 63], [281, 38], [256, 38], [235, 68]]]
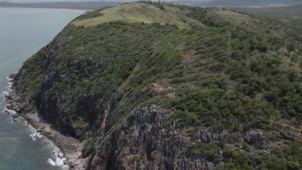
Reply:
[[36, 2], [36, 3], [12, 3], [1, 1], [0, 7], [33, 7], [33, 8], [66, 8], [66, 9], [99, 9], [105, 6], [119, 5], [123, 2], [112, 1], [86, 1], [86, 2]]

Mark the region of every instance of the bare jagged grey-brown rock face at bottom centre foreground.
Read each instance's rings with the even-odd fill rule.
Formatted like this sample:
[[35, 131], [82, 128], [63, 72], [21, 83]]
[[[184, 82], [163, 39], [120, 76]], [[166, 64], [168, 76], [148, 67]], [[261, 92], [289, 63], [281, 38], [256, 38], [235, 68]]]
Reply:
[[[155, 105], [136, 109], [136, 117], [114, 133], [96, 142], [91, 170], [205, 170], [214, 165], [206, 159], [186, 158], [190, 137], [177, 122], [169, 122], [171, 112]], [[110, 141], [111, 145], [107, 145]], [[108, 161], [109, 160], [109, 161]], [[106, 166], [106, 167], [104, 167]], [[174, 167], [174, 168], [173, 168]]]

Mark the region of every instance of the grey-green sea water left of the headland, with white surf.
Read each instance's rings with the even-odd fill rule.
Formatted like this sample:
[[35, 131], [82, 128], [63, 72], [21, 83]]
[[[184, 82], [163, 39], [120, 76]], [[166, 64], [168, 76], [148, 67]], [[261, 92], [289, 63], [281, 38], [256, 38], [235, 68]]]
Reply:
[[[26, 122], [4, 113], [7, 76], [49, 43], [82, 10], [0, 7], [0, 170], [66, 169], [58, 148]], [[56, 154], [53, 154], [56, 152]]]

